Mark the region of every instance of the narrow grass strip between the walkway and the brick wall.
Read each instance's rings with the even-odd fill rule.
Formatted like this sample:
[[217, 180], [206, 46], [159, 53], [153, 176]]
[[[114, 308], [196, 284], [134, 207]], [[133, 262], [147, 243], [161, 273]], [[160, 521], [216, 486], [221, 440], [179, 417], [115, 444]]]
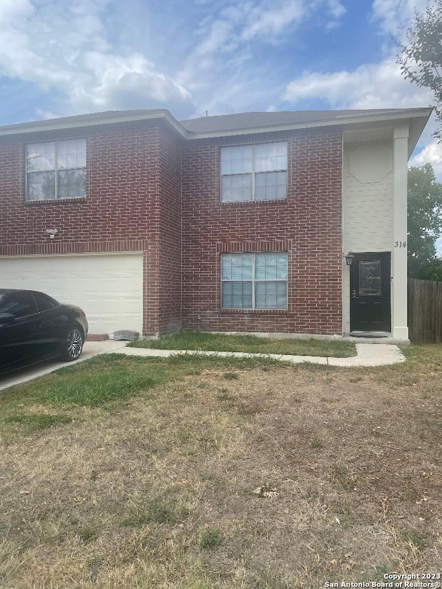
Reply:
[[342, 340], [308, 340], [262, 338], [259, 336], [228, 336], [203, 331], [182, 331], [157, 340], [139, 340], [131, 347], [154, 349], [189, 349], [202, 351], [244, 351], [250, 354], [292, 354], [293, 356], [356, 356], [352, 342]]

